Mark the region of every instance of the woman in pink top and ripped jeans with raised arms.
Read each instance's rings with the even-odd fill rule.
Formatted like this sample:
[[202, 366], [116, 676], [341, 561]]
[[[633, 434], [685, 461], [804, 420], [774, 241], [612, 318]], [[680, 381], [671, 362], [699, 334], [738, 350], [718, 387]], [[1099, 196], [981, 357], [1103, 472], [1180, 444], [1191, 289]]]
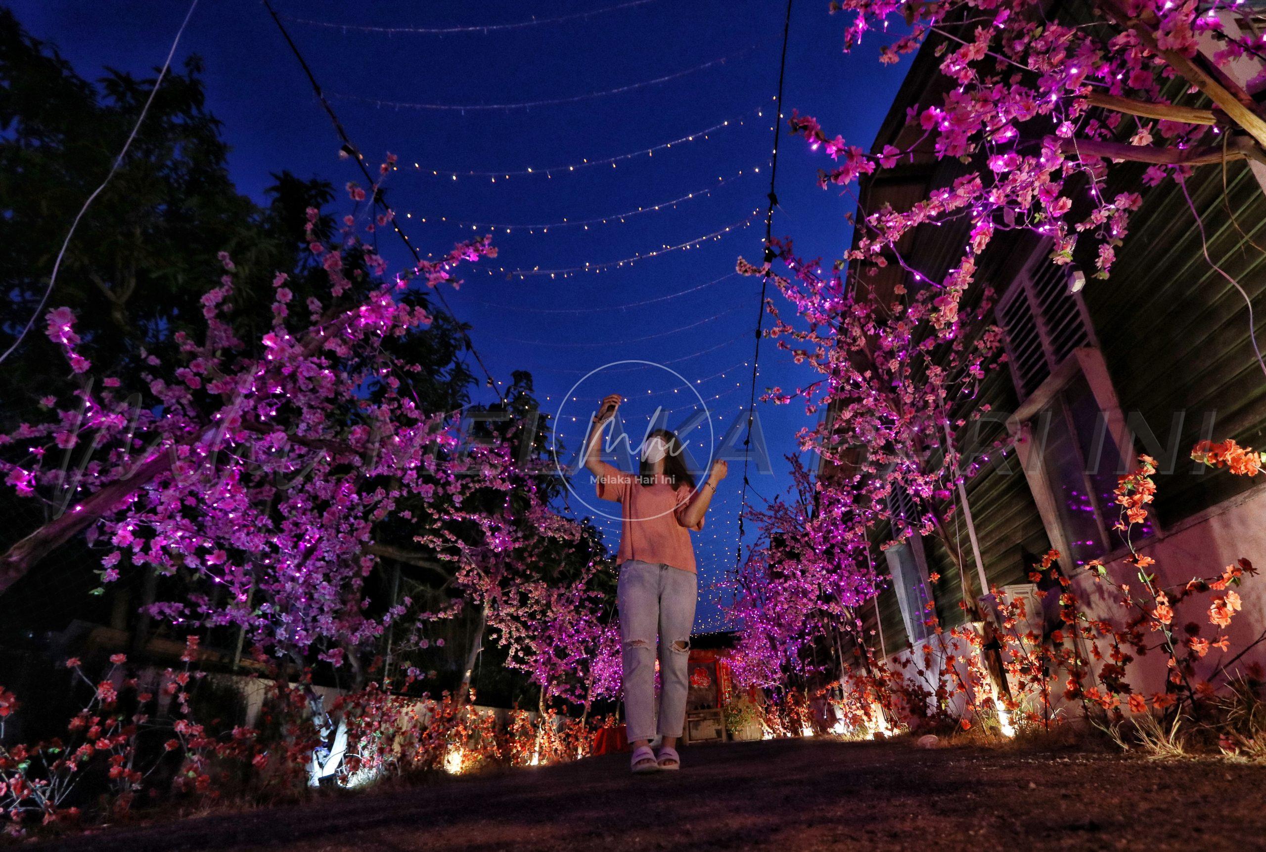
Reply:
[[[638, 475], [601, 458], [603, 427], [615, 415], [619, 394], [603, 399], [585, 447], [585, 467], [598, 477], [598, 496], [620, 504], [620, 657], [624, 663], [624, 718], [633, 746], [633, 771], [681, 768], [674, 746], [686, 718], [690, 690], [690, 630], [695, 623], [699, 575], [687, 530], [704, 528], [704, 513], [728, 466], [713, 462], [708, 481], [695, 487], [668, 429], [656, 429], [642, 447]], [[655, 724], [655, 658], [660, 646], [658, 756], [651, 749]]]

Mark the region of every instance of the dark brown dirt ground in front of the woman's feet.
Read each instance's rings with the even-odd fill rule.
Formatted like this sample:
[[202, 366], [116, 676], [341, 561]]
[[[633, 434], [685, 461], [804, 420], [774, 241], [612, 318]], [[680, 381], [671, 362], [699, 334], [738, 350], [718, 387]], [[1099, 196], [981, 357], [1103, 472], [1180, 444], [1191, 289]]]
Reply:
[[[291, 808], [108, 828], [41, 852], [282, 849], [1262, 849], [1266, 767], [904, 741], [682, 749], [444, 779]], [[30, 848], [30, 847], [25, 847]]]

